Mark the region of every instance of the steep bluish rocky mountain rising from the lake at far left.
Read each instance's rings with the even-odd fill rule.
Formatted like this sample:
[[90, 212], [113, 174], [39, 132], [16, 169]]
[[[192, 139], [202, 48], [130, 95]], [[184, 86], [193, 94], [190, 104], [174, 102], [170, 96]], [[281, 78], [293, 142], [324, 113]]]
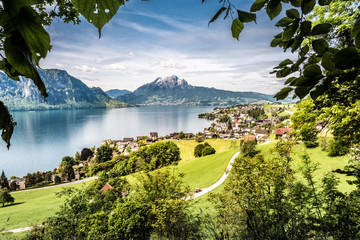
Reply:
[[0, 101], [12, 110], [129, 107], [110, 98], [101, 88], [89, 88], [64, 70], [39, 69], [48, 97], [46, 102], [31, 79], [11, 80], [0, 72]]

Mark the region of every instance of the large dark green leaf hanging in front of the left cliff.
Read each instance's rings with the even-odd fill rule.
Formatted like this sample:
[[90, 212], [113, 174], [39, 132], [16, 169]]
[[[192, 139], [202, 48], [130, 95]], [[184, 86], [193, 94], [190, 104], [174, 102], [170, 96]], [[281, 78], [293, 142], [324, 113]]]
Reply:
[[4, 50], [9, 64], [21, 75], [31, 78], [41, 95], [47, 97], [45, 85], [36, 69], [30, 49], [22, 36], [17, 32], [13, 32], [10, 37], [5, 39]]

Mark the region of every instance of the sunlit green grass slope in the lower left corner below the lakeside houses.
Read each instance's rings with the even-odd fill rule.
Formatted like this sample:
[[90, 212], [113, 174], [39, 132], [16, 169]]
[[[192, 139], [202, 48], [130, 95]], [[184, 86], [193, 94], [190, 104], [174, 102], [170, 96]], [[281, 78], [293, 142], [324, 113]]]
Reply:
[[[82, 187], [87, 183], [71, 185]], [[13, 205], [0, 207], [0, 230], [9, 230], [40, 224], [45, 218], [54, 216], [63, 200], [55, 196], [65, 186], [12, 192]]]

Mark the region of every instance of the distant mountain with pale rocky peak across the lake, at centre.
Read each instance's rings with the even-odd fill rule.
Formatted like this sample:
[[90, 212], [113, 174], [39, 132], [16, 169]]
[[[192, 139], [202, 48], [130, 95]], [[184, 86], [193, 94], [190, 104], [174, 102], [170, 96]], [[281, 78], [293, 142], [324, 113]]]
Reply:
[[115, 98], [118, 101], [144, 105], [235, 105], [253, 102], [274, 102], [271, 95], [256, 92], [233, 92], [191, 86], [184, 79], [170, 76], [157, 78], [133, 93]]

